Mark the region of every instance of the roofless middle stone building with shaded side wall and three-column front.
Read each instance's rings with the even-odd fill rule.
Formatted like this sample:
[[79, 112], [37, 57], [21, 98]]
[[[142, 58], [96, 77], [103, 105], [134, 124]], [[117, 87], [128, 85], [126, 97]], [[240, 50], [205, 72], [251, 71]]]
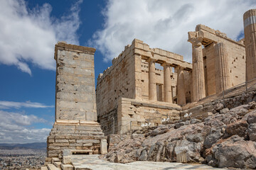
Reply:
[[[152, 86], [152, 89], [149, 89], [149, 60], [154, 60], [153, 65], [158, 64], [157, 67], [151, 69], [151, 76], [154, 77], [154, 86]], [[164, 101], [163, 65], [167, 62], [169, 67], [171, 67], [171, 73], [168, 75], [170, 77], [171, 93], [174, 100], [171, 99], [169, 103], [160, 105], [168, 106], [170, 104], [172, 106], [171, 103], [176, 102], [177, 70], [174, 67], [182, 67], [185, 70], [184, 79], [188, 82], [185, 86], [186, 94], [188, 94], [186, 96], [188, 98], [187, 101], [191, 101], [191, 83], [189, 83], [191, 81], [191, 64], [184, 62], [183, 56], [181, 55], [176, 55], [158, 48], [151, 49], [142, 40], [134, 39], [132, 45], [127, 45], [119, 57], [112, 60], [112, 66], [106, 69], [103, 74], [100, 74], [97, 79], [97, 118], [105, 135], [120, 133], [121, 130], [122, 132], [128, 130], [127, 123], [129, 124], [130, 119], [129, 121], [125, 119], [128, 114], [126, 113], [126, 107], [129, 108], [129, 106], [123, 105], [124, 103], [122, 102], [117, 102], [122, 101], [120, 98], [131, 98], [142, 101], [142, 103], [147, 103], [151, 101], [149, 99], [149, 93], [153, 91], [155, 95], [154, 102]], [[154, 110], [154, 108], [156, 109]], [[174, 110], [177, 110], [176, 108], [179, 108], [179, 106], [175, 105]], [[140, 107], [140, 109], [144, 108]], [[168, 111], [168, 109], [173, 110], [173, 108], [167, 107], [162, 109], [157, 108], [157, 105], [151, 105], [150, 109], [145, 109], [148, 109], [146, 116], [141, 115], [141, 110], [135, 111], [139, 114], [137, 114], [137, 119], [132, 119], [134, 128], [138, 128], [142, 123], [145, 123], [145, 119], [154, 119], [157, 117], [155, 123], [161, 123], [161, 114], [173, 114], [172, 111]], [[149, 110], [152, 110], [152, 113], [149, 114]]]

